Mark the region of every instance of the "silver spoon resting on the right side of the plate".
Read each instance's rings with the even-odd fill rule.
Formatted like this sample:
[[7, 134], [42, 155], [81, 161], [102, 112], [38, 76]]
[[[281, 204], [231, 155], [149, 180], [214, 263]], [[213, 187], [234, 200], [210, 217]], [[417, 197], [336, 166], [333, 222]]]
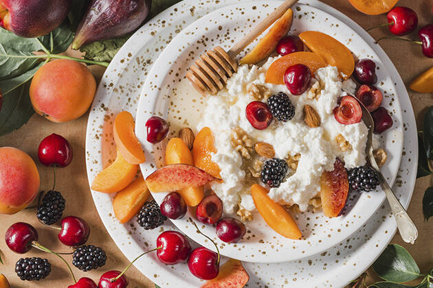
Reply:
[[[357, 99], [357, 97], [355, 97], [355, 95], [353, 95], [352, 93], [349, 93], [348, 91], [344, 92]], [[368, 128], [366, 145], [368, 162], [370, 163], [370, 166], [376, 170], [377, 175], [379, 176], [380, 186], [382, 187], [382, 190], [384, 190], [386, 199], [388, 199], [388, 202], [391, 206], [391, 211], [392, 214], [394, 214], [395, 221], [397, 222], [397, 227], [399, 228], [401, 238], [406, 243], [413, 244], [418, 237], [417, 227], [415, 226], [412, 219], [410, 219], [408, 213], [403, 208], [403, 206], [401, 206], [401, 203], [399, 202], [397, 197], [395, 197], [395, 193], [392, 191], [390, 185], [388, 185], [388, 182], [386, 182], [384, 175], [382, 175], [379, 169], [379, 166], [377, 166], [375, 157], [373, 156], [373, 131], [375, 130], [375, 122], [373, 121], [373, 117], [371, 117], [370, 112], [368, 112], [364, 104], [362, 104], [359, 99], [357, 99], [357, 101], [362, 108], [362, 120]]]

